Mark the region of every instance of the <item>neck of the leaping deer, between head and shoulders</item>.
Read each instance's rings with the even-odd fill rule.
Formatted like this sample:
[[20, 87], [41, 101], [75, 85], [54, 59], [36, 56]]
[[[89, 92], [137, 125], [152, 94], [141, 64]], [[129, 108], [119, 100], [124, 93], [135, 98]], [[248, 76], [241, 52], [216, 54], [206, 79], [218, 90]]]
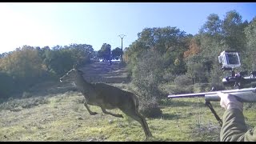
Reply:
[[77, 74], [77, 78], [75, 79], [74, 83], [78, 87], [78, 90], [80, 90], [82, 93], [86, 95], [95, 94], [94, 86], [89, 82], [86, 82], [82, 75]]

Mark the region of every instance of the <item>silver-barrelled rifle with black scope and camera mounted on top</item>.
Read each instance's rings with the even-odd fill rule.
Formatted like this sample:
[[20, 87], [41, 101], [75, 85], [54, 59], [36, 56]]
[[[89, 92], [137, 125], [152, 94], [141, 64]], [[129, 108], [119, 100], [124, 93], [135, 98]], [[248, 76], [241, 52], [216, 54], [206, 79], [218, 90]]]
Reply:
[[[194, 98], [194, 97], [204, 97], [206, 100], [206, 106], [208, 106], [211, 112], [214, 114], [215, 118], [218, 120], [220, 126], [222, 126], [222, 119], [218, 117], [218, 114], [215, 112], [213, 106], [210, 104], [210, 101], [219, 102], [218, 93], [227, 93], [234, 95], [235, 98], [240, 102], [256, 102], [256, 71], [250, 73], [250, 76], [244, 77], [246, 72], [240, 72], [238, 74], [234, 73], [234, 67], [241, 66], [239, 55], [234, 51], [223, 51], [218, 60], [222, 63], [222, 70], [231, 70], [231, 76], [222, 79], [224, 86], [234, 86], [234, 90], [219, 90], [204, 92], [204, 93], [195, 93], [195, 94], [169, 94], [168, 98]], [[254, 88], [244, 88], [247, 86], [254, 86]]]

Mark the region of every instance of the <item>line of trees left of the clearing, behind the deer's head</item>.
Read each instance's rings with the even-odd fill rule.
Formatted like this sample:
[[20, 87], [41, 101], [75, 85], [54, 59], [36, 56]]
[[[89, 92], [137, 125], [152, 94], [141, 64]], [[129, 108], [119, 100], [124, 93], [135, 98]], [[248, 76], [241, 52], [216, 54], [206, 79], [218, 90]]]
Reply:
[[75, 63], [86, 64], [94, 56], [92, 46], [22, 46], [0, 58], [0, 96], [22, 92], [37, 82], [57, 79]]

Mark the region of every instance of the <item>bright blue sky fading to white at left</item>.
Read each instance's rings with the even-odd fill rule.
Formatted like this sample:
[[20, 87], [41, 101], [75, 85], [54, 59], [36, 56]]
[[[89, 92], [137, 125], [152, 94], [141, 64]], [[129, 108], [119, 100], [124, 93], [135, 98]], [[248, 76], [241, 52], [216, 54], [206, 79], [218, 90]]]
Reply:
[[[256, 17], [256, 2], [0, 2], [0, 54], [27, 46], [103, 43], [128, 47], [145, 28], [176, 26], [198, 34], [210, 14]], [[118, 35], [125, 34], [121, 40]]]

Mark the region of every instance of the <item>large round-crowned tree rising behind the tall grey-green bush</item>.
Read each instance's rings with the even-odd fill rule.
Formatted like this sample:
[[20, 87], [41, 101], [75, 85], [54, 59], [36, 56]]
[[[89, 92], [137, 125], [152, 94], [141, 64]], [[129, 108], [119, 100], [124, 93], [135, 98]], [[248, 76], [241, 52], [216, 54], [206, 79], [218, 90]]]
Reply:
[[[158, 52], [164, 58], [164, 69], [174, 74], [186, 72], [183, 53], [188, 49], [188, 42], [192, 35], [176, 27], [145, 28], [138, 33], [138, 39], [125, 51], [124, 59], [132, 71], [138, 66], [138, 58], [143, 57], [144, 51]], [[176, 62], [175, 62], [176, 61]], [[175, 62], [175, 63], [174, 63]]]

